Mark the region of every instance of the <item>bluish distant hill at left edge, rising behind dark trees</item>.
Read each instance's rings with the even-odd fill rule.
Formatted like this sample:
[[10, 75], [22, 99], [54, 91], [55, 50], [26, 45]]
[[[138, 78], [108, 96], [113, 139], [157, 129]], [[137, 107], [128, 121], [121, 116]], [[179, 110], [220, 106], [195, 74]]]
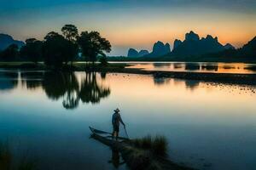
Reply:
[[5, 48], [8, 48], [9, 45], [11, 44], [16, 44], [20, 48], [25, 43], [15, 40], [13, 37], [7, 34], [0, 34], [0, 51], [4, 50]]

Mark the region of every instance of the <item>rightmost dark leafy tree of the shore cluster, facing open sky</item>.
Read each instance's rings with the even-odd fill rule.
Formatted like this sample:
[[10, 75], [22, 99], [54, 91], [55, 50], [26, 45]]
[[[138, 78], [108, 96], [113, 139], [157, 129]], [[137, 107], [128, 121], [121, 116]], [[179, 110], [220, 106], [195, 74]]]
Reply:
[[93, 64], [98, 55], [105, 56], [104, 52], [111, 51], [110, 42], [97, 31], [83, 31], [78, 37], [78, 43], [85, 59], [89, 59]]

